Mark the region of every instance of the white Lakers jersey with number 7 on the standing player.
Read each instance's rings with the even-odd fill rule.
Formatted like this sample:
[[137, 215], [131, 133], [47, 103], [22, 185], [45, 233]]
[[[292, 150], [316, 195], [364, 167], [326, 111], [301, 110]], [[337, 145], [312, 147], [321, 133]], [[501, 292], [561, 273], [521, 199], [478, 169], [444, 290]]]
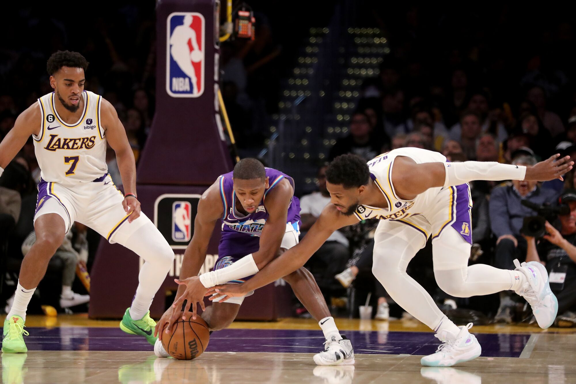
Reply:
[[108, 171], [106, 139], [100, 121], [102, 97], [84, 91], [84, 111], [74, 124], [65, 123], [55, 107], [55, 93], [38, 99], [42, 123], [32, 135], [41, 178], [72, 187], [102, 178]]

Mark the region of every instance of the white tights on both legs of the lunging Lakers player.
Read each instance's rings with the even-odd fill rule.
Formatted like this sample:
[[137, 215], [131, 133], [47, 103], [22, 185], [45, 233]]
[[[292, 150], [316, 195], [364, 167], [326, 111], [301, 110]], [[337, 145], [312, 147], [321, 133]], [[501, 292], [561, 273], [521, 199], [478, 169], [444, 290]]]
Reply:
[[[397, 304], [435, 329], [444, 314], [429, 293], [406, 273], [410, 260], [425, 245], [423, 236], [417, 236], [408, 241], [392, 232], [377, 232], [372, 272]], [[432, 244], [436, 281], [449, 295], [468, 297], [510, 289], [513, 271], [488, 265], [468, 267], [470, 244], [452, 227], [446, 227]]]

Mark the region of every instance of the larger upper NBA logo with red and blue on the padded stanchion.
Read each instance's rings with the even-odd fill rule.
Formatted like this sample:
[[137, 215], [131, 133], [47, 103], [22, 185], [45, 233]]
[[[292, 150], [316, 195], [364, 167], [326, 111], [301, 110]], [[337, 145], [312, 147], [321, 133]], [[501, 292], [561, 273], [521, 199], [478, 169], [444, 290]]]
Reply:
[[204, 16], [170, 13], [166, 21], [166, 92], [199, 97], [204, 92]]

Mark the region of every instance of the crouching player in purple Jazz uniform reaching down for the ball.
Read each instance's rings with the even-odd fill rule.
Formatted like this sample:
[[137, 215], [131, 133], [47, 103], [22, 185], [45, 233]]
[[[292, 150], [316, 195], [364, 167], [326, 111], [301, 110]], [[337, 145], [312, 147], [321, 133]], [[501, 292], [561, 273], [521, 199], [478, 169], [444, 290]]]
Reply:
[[[222, 220], [222, 237], [218, 260], [213, 271], [198, 277], [214, 226], [219, 220]], [[184, 253], [180, 280], [176, 280], [181, 285], [175, 303], [162, 316], [154, 333], [161, 340], [165, 325], [168, 325], [165, 332], [170, 333], [172, 325], [180, 317], [185, 299], [184, 312], [192, 306], [196, 313], [196, 302], [200, 303], [204, 310], [202, 318], [210, 330], [228, 327], [236, 318], [244, 297], [253, 292], [226, 302], [215, 301], [211, 307], [204, 308], [203, 298], [208, 288], [227, 282], [242, 283], [274, 257], [294, 247], [300, 234], [299, 222], [300, 202], [294, 197], [294, 180], [290, 176], [264, 168], [256, 159], [242, 159], [233, 172], [219, 176], [200, 198], [194, 236]], [[229, 278], [230, 274], [237, 276]], [[326, 339], [333, 341], [326, 343], [332, 344], [331, 350], [317, 354], [314, 361], [319, 365], [354, 364], [350, 340], [340, 336], [312, 274], [300, 266], [281, 277], [319, 322]], [[154, 348], [156, 352], [161, 348], [160, 340]], [[338, 349], [338, 354], [332, 351], [334, 348]]]

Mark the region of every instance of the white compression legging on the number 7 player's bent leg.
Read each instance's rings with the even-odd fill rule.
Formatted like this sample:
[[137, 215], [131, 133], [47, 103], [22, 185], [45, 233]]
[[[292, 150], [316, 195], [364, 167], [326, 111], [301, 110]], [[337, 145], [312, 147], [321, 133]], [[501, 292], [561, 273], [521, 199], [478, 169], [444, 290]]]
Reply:
[[120, 244], [145, 260], [138, 274], [138, 288], [130, 306], [130, 316], [139, 320], [150, 309], [154, 295], [172, 267], [174, 252], [151, 221]]

